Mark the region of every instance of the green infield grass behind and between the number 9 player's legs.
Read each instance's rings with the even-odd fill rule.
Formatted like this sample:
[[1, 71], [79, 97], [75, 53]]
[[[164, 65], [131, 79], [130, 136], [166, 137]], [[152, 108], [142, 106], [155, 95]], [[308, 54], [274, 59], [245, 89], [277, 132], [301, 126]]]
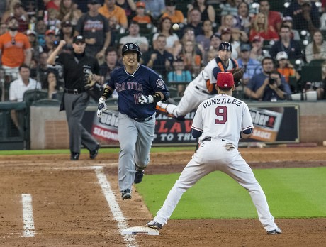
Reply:
[[[271, 214], [276, 218], [326, 217], [326, 168], [254, 170]], [[162, 206], [179, 174], [145, 175], [136, 185], [153, 215]], [[222, 172], [213, 172], [191, 187], [172, 219], [257, 218], [247, 190]]]

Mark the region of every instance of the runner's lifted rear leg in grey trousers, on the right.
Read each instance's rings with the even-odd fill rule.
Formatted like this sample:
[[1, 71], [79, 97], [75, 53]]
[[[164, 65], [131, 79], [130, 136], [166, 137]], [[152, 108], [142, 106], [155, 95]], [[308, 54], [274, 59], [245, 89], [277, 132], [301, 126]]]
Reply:
[[155, 116], [150, 121], [136, 123], [138, 138], [135, 145], [135, 183], [142, 182], [144, 170], [150, 163], [150, 148], [154, 140]]

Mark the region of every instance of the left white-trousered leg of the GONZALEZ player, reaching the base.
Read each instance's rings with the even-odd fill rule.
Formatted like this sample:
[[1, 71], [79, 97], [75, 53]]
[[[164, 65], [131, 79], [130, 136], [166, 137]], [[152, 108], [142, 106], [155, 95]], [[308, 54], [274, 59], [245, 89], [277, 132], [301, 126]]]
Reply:
[[211, 162], [208, 161], [207, 163], [207, 152], [211, 152], [211, 150], [208, 150], [206, 147], [200, 147], [197, 153], [193, 155], [193, 158], [181, 172], [179, 179], [167, 195], [167, 199], [165, 199], [163, 206], [157, 212], [157, 216], [154, 217], [154, 222], [157, 222], [162, 226], [167, 224], [167, 220], [174, 212], [174, 209], [184, 192], [195, 185], [202, 177], [215, 170], [215, 161], [211, 160]]

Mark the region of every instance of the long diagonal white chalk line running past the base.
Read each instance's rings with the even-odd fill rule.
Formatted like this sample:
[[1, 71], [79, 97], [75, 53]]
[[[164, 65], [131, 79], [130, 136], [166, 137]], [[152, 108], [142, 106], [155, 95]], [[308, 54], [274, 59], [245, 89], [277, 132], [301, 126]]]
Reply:
[[[94, 171], [96, 173], [96, 177], [99, 180], [99, 184], [101, 185], [102, 192], [106, 197], [106, 202], [108, 202], [108, 207], [110, 207], [111, 212], [113, 214], [113, 218], [118, 222], [118, 229], [120, 234], [124, 229], [127, 228], [127, 222], [125, 221], [125, 217], [121, 212], [121, 209], [116, 201], [116, 197], [111, 190], [111, 185], [106, 179], [106, 175], [103, 172], [103, 167], [96, 166], [94, 167]], [[127, 243], [128, 247], [136, 247], [137, 243], [133, 235], [122, 235], [125, 243]]]

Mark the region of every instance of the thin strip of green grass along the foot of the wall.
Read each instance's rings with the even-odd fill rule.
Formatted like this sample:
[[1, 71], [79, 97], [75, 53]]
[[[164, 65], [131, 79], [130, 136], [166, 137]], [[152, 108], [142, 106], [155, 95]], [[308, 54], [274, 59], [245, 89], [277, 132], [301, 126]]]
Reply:
[[[159, 152], [178, 152], [178, 151], [194, 151], [194, 146], [183, 147], [153, 147], [151, 153]], [[101, 148], [101, 153], [118, 153], [119, 148]], [[68, 149], [55, 149], [55, 150], [1, 150], [0, 155], [43, 155], [43, 154], [66, 154], [70, 153]], [[81, 149], [81, 153], [89, 153], [85, 148]]]

